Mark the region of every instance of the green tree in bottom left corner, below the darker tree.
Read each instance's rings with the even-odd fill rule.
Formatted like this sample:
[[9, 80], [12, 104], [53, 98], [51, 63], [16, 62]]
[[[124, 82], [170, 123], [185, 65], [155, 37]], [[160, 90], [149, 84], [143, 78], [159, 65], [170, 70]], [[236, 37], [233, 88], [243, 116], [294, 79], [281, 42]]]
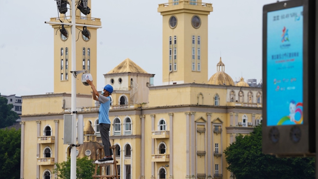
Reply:
[[20, 179], [21, 129], [0, 129], [0, 178]]

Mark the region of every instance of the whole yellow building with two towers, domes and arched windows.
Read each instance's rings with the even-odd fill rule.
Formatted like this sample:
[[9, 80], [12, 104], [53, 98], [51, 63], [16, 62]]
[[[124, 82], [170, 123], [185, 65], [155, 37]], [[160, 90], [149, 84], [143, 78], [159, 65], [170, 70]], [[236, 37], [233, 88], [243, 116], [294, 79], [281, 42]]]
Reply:
[[[215, 74], [207, 76], [207, 18], [212, 11], [212, 4], [201, 0], [159, 4], [163, 20], [163, 85], [154, 86], [155, 75], [130, 59], [119, 60], [104, 74], [105, 84], [114, 87], [110, 139], [116, 145], [114, 158], [121, 179], [234, 178], [226, 169], [223, 151], [235, 136], [249, 134], [261, 122], [262, 90], [249, 87], [244, 80], [234, 85], [221, 59], [213, 62]], [[101, 24], [90, 15], [76, 16], [77, 23]], [[66, 48], [70, 52], [71, 44], [61, 34], [55, 35], [58, 26], [52, 27], [54, 92], [22, 97], [24, 179], [54, 179], [54, 163], [70, 156], [69, 146], [63, 144], [63, 115], [71, 112], [71, 84], [65, 76], [71, 65], [70, 56], [66, 63]], [[89, 41], [82, 38], [76, 42], [76, 68], [90, 69], [96, 79], [97, 29], [89, 31]], [[101, 143], [99, 106], [92, 100], [89, 86], [81, 82], [77, 86], [76, 111], [83, 115], [85, 124], [85, 140], [77, 147], [77, 157], [96, 159], [96, 143]], [[112, 168], [104, 170], [109, 173]]]

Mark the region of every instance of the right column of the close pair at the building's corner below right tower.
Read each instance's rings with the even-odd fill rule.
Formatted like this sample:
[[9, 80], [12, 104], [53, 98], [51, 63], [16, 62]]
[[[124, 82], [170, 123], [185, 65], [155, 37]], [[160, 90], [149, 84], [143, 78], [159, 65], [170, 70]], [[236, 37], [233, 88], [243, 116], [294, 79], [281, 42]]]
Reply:
[[196, 144], [195, 144], [195, 134], [196, 134], [196, 126], [194, 119], [195, 112], [191, 112], [191, 176], [195, 179], [195, 166], [196, 166]]

